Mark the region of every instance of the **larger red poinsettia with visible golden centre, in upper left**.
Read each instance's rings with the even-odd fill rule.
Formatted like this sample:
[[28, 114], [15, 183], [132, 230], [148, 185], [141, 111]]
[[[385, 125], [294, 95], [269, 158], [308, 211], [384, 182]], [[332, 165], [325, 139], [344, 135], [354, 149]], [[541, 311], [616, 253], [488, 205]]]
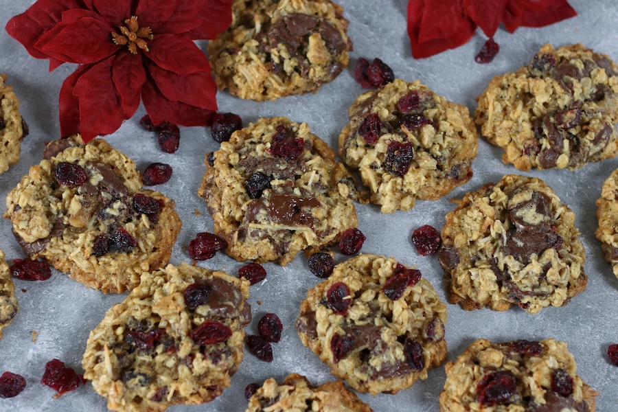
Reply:
[[216, 85], [193, 40], [231, 23], [232, 0], [38, 0], [6, 25], [49, 70], [79, 66], [60, 89], [60, 134], [113, 133], [144, 102], [155, 124], [206, 126]]

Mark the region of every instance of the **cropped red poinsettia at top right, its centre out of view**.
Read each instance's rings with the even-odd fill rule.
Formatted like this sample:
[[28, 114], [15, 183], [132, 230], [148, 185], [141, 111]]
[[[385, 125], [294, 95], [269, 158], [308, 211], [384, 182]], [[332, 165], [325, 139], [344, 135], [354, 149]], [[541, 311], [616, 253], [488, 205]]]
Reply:
[[477, 27], [492, 38], [500, 23], [542, 27], [576, 16], [567, 0], [409, 0], [408, 36], [414, 58], [468, 43]]

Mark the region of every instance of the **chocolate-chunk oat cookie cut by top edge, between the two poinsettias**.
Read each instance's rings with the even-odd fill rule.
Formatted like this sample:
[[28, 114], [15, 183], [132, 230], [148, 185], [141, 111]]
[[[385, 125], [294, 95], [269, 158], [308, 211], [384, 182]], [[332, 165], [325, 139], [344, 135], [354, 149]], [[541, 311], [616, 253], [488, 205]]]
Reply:
[[208, 54], [219, 89], [256, 101], [316, 92], [347, 67], [352, 42], [330, 0], [236, 0]]

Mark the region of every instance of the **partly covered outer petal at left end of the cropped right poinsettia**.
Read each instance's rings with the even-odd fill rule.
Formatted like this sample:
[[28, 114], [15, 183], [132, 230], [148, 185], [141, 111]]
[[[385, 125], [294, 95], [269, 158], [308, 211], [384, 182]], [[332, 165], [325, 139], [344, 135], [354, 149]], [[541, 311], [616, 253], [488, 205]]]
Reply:
[[453, 36], [420, 42], [419, 32], [423, 19], [424, 5], [424, 0], [409, 0], [408, 2], [408, 36], [410, 37], [412, 56], [414, 58], [425, 58], [448, 49], [454, 49], [455, 47], [467, 43], [470, 38], [472, 38], [472, 35], [474, 35], [476, 26], [468, 19], [468, 24], [463, 30], [453, 34]]

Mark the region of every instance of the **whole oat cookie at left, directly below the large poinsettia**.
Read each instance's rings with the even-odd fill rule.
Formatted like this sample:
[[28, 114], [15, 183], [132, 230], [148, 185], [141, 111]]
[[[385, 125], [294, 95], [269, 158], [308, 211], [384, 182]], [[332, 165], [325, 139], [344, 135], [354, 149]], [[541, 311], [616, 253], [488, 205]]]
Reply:
[[181, 228], [174, 201], [142, 188], [135, 163], [103, 139], [49, 144], [8, 194], [5, 218], [30, 258], [105, 293], [165, 265]]

